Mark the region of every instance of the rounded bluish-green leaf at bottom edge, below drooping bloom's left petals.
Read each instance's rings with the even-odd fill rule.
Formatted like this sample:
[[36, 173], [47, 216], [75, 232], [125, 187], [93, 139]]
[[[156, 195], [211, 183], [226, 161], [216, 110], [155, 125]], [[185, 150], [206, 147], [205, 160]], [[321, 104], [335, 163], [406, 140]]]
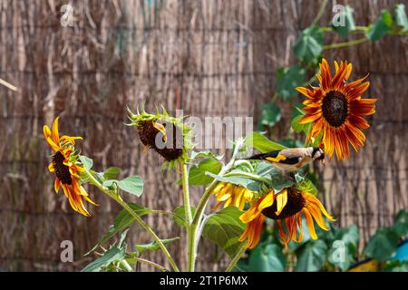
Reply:
[[269, 244], [256, 247], [249, 256], [248, 264], [251, 272], [284, 272], [287, 260], [281, 247]]

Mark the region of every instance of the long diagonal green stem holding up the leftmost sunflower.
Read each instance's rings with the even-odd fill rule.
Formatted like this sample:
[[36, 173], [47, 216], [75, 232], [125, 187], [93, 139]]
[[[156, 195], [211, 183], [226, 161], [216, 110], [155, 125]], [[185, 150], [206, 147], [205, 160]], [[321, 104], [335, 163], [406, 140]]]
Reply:
[[121, 196], [119, 195], [118, 190], [116, 189], [115, 191], [112, 191], [111, 189], [107, 189], [103, 187], [101, 182], [99, 182], [97, 179], [95, 179], [92, 175], [92, 173], [89, 170], [85, 170], [84, 175], [86, 178], [98, 189], [101, 189], [102, 192], [104, 192], [108, 197], [114, 199], [117, 203], [121, 205], [122, 208], [126, 209], [130, 214], [131, 217], [134, 218], [140, 225], [143, 227], [150, 235], [151, 237], [156, 241], [156, 243], [159, 245], [161, 251], [163, 254], [167, 257], [170, 266], [173, 268], [175, 272], [180, 272], [179, 267], [176, 265], [174, 262], [173, 258], [170, 256], [169, 250], [167, 249], [166, 246], [161, 242], [160, 237], [156, 235], [156, 233], [149, 227], [143, 219], [133, 210], [129, 205], [121, 199]]

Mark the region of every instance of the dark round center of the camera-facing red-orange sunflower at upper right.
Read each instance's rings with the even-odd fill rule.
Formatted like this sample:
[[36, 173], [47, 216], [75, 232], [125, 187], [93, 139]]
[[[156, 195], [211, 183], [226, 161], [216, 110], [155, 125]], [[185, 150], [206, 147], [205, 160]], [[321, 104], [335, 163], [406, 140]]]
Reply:
[[348, 115], [347, 99], [342, 92], [327, 92], [322, 105], [323, 117], [330, 125], [340, 127]]

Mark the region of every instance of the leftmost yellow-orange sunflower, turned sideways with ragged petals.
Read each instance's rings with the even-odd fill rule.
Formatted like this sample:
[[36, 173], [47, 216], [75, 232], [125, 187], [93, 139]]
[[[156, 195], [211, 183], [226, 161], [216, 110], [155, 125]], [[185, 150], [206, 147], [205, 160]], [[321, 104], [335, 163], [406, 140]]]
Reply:
[[58, 132], [58, 119], [53, 121], [53, 130], [51, 131], [47, 125], [44, 125], [44, 137], [48, 145], [55, 152], [53, 153], [52, 161], [48, 165], [50, 172], [55, 173], [53, 188], [56, 193], [60, 188], [63, 188], [65, 197], [73, 208], [85, 217], [90, 217], [90, 213], [86, 210], [83, 198], [97, 206], [86, 193], [80, 183], [79, 175], [85, 169], [78, 165], [78, 155], [75, 154], [73, 145], [75, 140], [81, 140], [82, 137], [71, 137], [63, 135], [60, 137]]

